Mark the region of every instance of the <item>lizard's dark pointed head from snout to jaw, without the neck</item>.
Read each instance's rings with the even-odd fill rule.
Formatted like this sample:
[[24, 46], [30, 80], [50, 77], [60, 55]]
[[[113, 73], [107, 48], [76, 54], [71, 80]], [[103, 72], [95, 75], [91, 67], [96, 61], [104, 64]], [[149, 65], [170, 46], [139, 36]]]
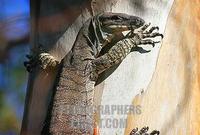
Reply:
[[98, 15], [97, 20], [102, 32], [108, 34], [134, 30], [145, 23], [142, 18], [137, 16], [110, 12]]

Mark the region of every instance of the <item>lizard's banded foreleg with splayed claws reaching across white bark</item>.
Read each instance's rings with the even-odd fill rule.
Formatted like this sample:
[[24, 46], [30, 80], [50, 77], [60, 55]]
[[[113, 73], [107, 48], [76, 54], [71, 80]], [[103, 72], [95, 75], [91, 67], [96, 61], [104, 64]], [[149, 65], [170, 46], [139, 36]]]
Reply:
[[144, 25], [141, 28], [136, 29], [134, 33], [128, 35], [130, 37], [132, 36], [131, 38], [120, 40], [112, 46], [108, 53], [94, 59], [92, 63], [96, 72], [100, 74], [111, 66], [119, 64], [131, 52], [132, 48], [138, 45], [150, 44], [154, 46], [156, 43], [160, 42], [151, 39], [158, 36], [163, 37], [162, 34], [153, 32], [154, 30], [157, 30], [158, 27], [151, 27], [147, 30], [148, 27], [149, 25]]

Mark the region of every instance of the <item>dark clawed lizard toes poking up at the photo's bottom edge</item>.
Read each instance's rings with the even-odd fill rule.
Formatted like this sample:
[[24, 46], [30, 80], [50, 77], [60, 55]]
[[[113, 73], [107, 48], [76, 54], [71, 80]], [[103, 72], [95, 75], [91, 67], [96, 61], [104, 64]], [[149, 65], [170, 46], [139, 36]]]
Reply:
[[157, 130], [153, 130], [151, 133], [147, 133], [149, 127], [143, 127], [140, 131], [138, 128], [135, 128], [131, 131], [130, 135], [159, 135], [160, 132]]

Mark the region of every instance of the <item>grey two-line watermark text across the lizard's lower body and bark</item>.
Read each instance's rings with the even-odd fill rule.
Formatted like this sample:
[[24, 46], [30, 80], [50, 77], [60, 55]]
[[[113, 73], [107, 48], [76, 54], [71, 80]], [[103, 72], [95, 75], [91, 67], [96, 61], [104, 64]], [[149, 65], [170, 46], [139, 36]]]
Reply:
[[[93, 114], [101, 116], [98, 119], [99, 128], [126, 128], [127, 115], [140, 115], [142, 107], [141, 105], [68, 105], [66, 108], [62, 108], [61, 112], [76, 117], [76, 121], [71, 123], [71, 126], [76, 128], [85, 129], [88, 125], [92, 125], [91, 123], [94, 122], [94, 119], [88, 116], [92, 116]], [[85, 115], [85, 117], [78, 118], [81, 115]]]

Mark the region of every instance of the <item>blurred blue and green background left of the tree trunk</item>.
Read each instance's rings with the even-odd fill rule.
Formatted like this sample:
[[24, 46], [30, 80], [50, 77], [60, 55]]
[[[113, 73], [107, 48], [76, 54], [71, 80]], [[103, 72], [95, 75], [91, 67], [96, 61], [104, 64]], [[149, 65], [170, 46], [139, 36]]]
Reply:
[[0, 0], [0, 135], [19, 134], [27, 85], [29, 0]]

